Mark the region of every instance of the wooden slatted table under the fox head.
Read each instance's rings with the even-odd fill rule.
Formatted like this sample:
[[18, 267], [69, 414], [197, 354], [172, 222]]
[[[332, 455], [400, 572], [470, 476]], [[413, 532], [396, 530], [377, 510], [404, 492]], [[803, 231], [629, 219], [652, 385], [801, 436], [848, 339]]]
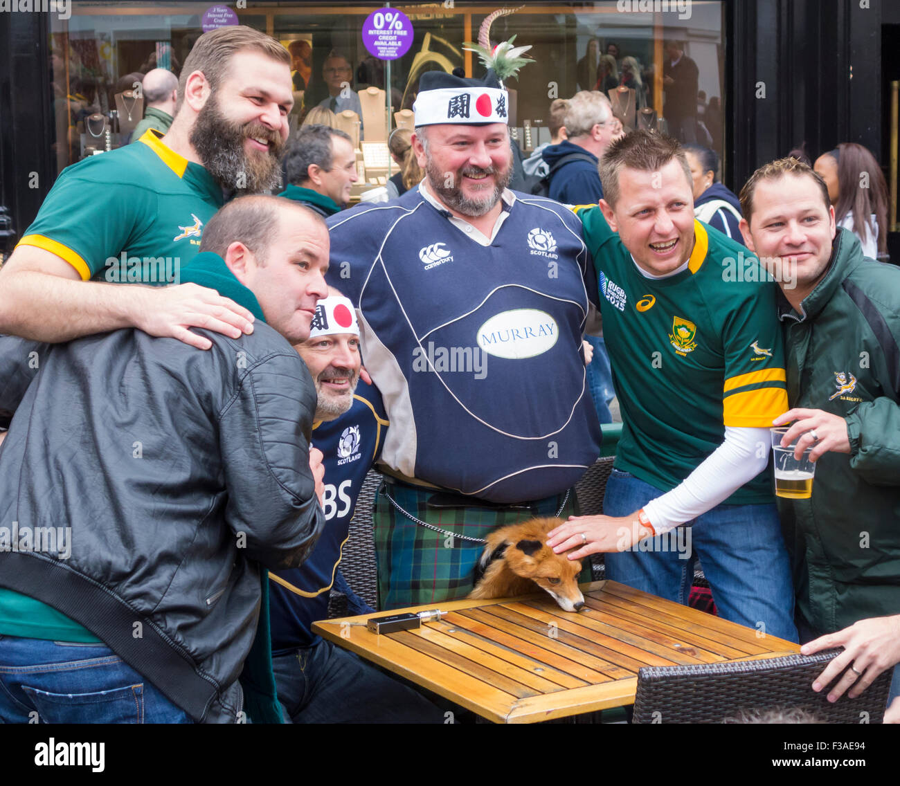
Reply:
[[613, 581], [581, 585], [585, 608], [563, 612], [537, 593], [387, 613], [450, 612], [418, 630], [376, 635], [369, 616], [316, 622], [325, 639], [496, 723], [535, 723], [635, 701], [644, 665], [795, 655], [785, 639]]

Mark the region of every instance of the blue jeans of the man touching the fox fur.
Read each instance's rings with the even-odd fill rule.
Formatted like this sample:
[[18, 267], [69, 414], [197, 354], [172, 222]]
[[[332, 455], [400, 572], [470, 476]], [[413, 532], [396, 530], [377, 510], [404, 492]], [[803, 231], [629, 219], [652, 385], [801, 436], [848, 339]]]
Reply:
[[[626, 516], [642, 508], [659, 489], [613, 469], [603, 513]], [[779, 514], [772, 505], [717, 505], [690, 524], [691, 549], [682, 559], [672, 536], [653, 540], [653, 549], [605, 555], [607, 577], [676, 603], [688, 603], [694, 562], [700, 559], [719, 615], [725, 620], [797, 642], [794, 585]], [[674, 532], [673, 532], [674, 534]], [[760, 624], [761, 623], [761, 624]]]

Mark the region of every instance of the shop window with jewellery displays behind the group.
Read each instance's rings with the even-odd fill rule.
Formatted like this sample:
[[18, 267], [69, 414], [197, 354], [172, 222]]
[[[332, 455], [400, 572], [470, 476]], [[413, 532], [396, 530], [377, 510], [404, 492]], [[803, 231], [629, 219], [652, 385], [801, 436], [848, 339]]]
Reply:
[[[500, 17], [491, 29], [492, 38], [516, 35], [518, 44], [532, 46], [528, 54], [535, 60], [507, 85], [512, 91], [513, 136], [526, 152], [549, 141], [545, 124], [554, 98], [598, 89], [611, 96], [627, 127], [658, 127], [682, 141], [712, 147], [722, 156], [723, 5], [718, 0], [547, 2], [527, 4]], [[50, 101], [56, 118], [57, 171], [131, 141], [147, 109], [136, 96], [135, 83], [153, 67], [180, 74], [184, 58], [202, 34], [202, 16], [210, 6], [74, 2], [69, 19], [53, 18]], [[383, 4], [247, 2], [247, 8], [236, 13], [240, 23], [270, 33], [292, 51], [293, 129], [312, 107], [335, 105], [329, 101], [329, 79], [333, 82], [339, 76], [357, 94], [372, 88], [370, 96], [384, 96], [383, 109], [370, 116], [368, 126], [363, 122], [362, 142], [385, 140], [398, 122], [409, 122], [398, 113], [411, 108], [425, 71], [463, 67], [469, 75], [482, 72], [463, 43], [476, 40], [485, 16], [499, 6], [465, 2], [451, 6], [394, 4], [410, 17], [414, 39], [409, 52], [390, 64], [370, 55], [362, 40], [366, 16]], [[332, 54], [346, 61], [329, 58]], [[326, 67], [329, 74], [324, 73]], [[341, 69], [339, 74], [336, 68]], [[371, 110], [371, 98], [367, 106]]]

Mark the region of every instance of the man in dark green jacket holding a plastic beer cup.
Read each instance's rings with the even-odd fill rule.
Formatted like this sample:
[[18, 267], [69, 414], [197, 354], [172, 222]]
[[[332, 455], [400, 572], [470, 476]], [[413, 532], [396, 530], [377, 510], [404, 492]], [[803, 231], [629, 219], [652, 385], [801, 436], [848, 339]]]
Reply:
[[[835, 228], [824, 181], [795, 159], [758, 169], [741, 207], [781, 290], [793, 408], [774, 424], [792, 423], [782, 443], [799, 437], [816, 462], [812, 497], [779, 499], [808, 641], [900, 611], [900, 270]], [[877, 675], [854, 674], [862, 687]]]

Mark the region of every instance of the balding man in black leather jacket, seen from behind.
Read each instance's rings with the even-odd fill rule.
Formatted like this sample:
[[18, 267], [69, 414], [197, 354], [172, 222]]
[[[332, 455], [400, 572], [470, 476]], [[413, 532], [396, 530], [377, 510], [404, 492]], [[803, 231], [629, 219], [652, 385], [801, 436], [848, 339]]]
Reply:
[[[291, 344], [328, 293], [329, 236], [292, 201], [246, 197], [202, 244], [218, 254], [183, 280], [252, 311], [251, 335], [203, 331], [209, 352], [136, 329], [4, 339], [0, 720], [242, 719], [265, 568], [300, 565], [325, 523]], [[242, 676], [253, 719], [267, 676]]]

